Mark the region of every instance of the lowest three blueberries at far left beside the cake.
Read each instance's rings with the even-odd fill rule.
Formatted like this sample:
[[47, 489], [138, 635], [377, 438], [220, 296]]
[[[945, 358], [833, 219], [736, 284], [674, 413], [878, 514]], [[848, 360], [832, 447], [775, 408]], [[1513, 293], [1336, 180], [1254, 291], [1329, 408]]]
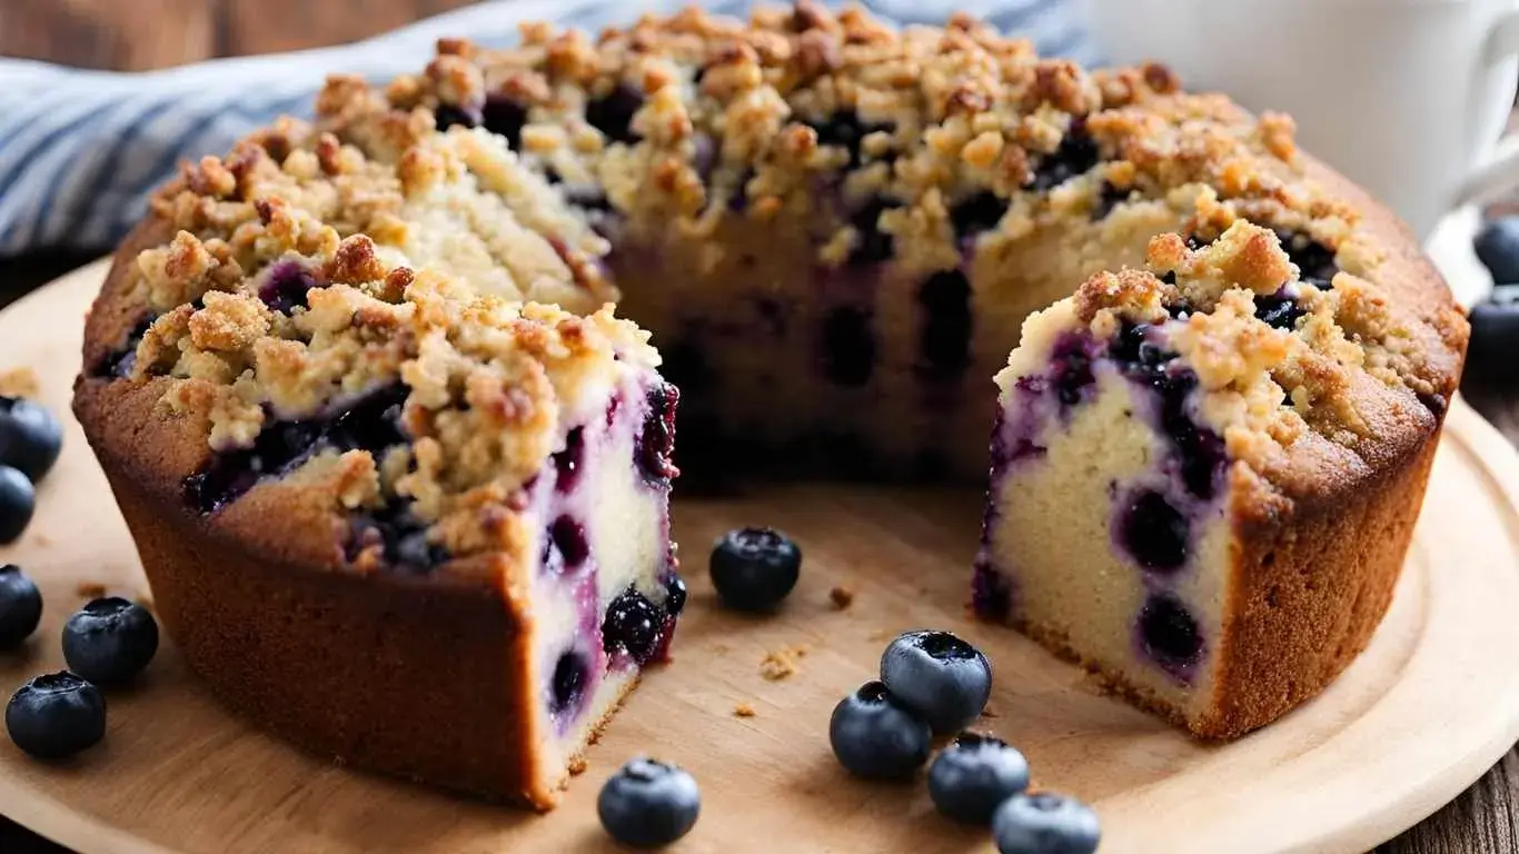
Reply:
[[[43, 594], [20, 567], [0, 567], [0, 649], [32, 637]], [[131, 684], [158, 652], [158, 622], [135, 602], [96, 599], [68, 618], [62, 634], [68, 670], [17, 688], [5, 707], [11, 742], [39, 760], [62, 760], [105, 737], [100, 687]]]

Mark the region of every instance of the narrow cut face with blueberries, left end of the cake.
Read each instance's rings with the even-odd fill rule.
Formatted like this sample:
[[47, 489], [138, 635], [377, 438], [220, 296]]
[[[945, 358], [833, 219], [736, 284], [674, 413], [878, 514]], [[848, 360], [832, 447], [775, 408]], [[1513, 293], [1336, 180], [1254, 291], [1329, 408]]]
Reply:
[[684, 603], [684, 588], [671, 593], [676, 398], [658, 375], [624, 378], [529, 489], [536, 755], [550, 789], [674, 634]]

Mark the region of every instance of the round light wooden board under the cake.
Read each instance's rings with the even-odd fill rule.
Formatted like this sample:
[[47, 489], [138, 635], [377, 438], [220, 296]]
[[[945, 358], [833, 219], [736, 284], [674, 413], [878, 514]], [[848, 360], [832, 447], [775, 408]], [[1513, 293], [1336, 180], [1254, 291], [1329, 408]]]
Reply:
[[[103, 266], [0, 313], [0, 369], [32, 366], [67, 416], [81, 321]], [[87, 854], [600, 849], [595, 793], [638, 752], [688, 767], [703, 814], [681, 851], [989, 851], [933, 814], [921, 784], [849, 780], [828, 716], [914, 626], [951, 628], [996, 669], [983, 725], [1024, 749], [1036, 784], [1097, 805], [1104, 852], [1364, 851], [1460, 793], [1519, 739], [1519, 457], [1457, 403], [1404, 579], [1370, 649], [1323, 696], [1241, 742], [1206, 746], [1098, 694], [1074, 667], [963, 612], [981, 497], [797, 485], [677, 501], [691, 605], [671, 667], [652, 672], [554, 813], [460, 801], [302, 755], [223, 713], [166, 646], [109, 697], [105, 743], [76, 763], [0, 743], [0, 811]], [[715, 535], [790, 530], [807, 555], [784, 611], [715, 608], [702, 571]], [[23, 541], [0, 549], [41, 582], [43, 628], [0, 658], [0, 688], [62, 667], [58, 632], [81, 585], [146, 596], [137, 553], [77, 424]], [[834, 587], [854, 591], [835, 609]], [[805, 650], [767, 681], [770, 652]], [[753, 717], [737, 717], [747, 704]], [[439, 722], [447, 726], [447, 722]]]

